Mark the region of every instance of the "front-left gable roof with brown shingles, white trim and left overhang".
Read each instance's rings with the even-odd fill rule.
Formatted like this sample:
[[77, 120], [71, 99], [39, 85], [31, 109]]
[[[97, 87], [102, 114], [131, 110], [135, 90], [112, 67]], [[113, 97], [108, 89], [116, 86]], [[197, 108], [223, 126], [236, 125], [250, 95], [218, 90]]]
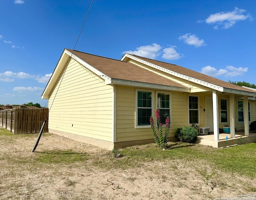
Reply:
[[152, 73], [151, 71], [143, 69], [132, 63], [92, 55], [89, 53], [83, 53], [76, 50], [72, 51], [65, 49], [54, 69], [54, 72], [52, 73], [48, 84], [46, 85], [46, 88], [44, 89], [42, 98], [49, 98], [49, 95], [54, 89], [55, 83], [58, 80], [58, 76], [61, 74], [60, 72], [65, 69], [70, 56], [72, 56], [72, 58], [77, 62], [81, 63], [84, 67], [92, 71], [94, 74], [104, 79], [105, 84], [136, 85], [137, 83], [141, 83], [141, 87], [146, 87], [146, 85], [148, 85], [148, 87], [150, 87], [150, 85], [161, 85], [167, 86], [164, 89], [168, 90], [175, 90], [175, 88], [182, 91], [188, 90], [188, 88], [184, 87], [184, 85], [166, 79], [161, 75]]

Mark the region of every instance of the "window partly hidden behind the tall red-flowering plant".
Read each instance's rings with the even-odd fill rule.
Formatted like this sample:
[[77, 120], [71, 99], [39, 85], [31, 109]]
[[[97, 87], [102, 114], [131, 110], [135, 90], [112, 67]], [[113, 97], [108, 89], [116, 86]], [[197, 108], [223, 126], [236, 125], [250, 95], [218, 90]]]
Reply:
[[166, 118], [170, 118], [170, 93], [157, 93], [157, 108], [161, 123], [165, 124]]

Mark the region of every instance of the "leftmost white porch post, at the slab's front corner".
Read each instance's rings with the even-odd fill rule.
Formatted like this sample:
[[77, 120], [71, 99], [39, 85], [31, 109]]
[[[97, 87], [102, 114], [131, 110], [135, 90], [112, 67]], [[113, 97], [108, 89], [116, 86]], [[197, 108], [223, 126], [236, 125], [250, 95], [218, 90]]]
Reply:
[[214, 140], [219, 140], [219, 108], [217, 91], [212, 91], [212, 108], [213, 108], [213, 132]]

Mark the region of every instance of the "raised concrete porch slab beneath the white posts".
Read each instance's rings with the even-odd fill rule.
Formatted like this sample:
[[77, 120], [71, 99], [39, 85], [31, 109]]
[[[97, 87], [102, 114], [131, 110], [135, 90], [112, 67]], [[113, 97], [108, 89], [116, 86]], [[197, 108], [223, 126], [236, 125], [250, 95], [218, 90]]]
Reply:
[[240, 135], [242, 135], [241, 145], [256, 142], [256, 131], [250, 132], [249, 136], [245, 136], [244, 131], [238, 131], [236, 132], [235, 138], [230, 138], [230, 133], [220, 133], [219, 141], [214, 141], [214, 135], [198, 135], [196, 143], [221, 148], [226, 147], [226, 137], [228, 137], [228, 146], [240, 145]]

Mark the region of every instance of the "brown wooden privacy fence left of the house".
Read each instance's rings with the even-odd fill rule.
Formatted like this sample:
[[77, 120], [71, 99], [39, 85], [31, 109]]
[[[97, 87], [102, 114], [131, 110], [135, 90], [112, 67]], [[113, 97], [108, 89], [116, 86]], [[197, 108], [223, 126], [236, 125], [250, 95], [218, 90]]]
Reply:
[[[39, 133], [44, 120], [43, 133], [48, 132], [48, 108], [14, 108], [0, 111], [0, 126], [14, 134]], [[46, 118], [47, 117], [47, 118]]]

